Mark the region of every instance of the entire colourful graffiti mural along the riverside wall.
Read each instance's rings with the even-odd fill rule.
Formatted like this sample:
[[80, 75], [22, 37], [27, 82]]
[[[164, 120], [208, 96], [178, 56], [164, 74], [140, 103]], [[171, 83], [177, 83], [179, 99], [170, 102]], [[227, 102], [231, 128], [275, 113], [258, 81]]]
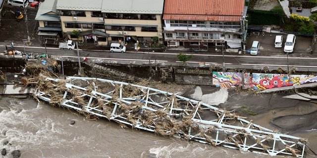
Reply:
[[317, 82], [317, 76], [314, 75], [245, 73], [243, 79], [242, 75], [242, 73], [212, 72], [212, 83], [225, 88], [243, 86], [264, 90]]

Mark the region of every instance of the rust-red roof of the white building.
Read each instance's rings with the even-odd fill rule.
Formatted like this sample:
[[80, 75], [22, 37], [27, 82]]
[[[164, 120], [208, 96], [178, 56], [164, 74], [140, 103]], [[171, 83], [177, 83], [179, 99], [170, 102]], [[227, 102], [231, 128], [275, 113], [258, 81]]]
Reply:
[[163, 19], [239, 21], [245, 0], [164, 0]]

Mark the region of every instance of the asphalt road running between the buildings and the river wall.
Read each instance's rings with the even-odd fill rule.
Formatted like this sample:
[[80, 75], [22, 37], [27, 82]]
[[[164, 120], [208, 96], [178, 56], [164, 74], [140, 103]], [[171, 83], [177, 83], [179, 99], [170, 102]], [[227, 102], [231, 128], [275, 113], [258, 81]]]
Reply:
[[[0, 45], [1, 47], [1, 45]], [[4, 47], [4, 46], [3, 46]], [[16, 50], [24, 51], [24, 46], [15, 46]], [[177, 59], [177, 55], [183, 51], [165, 51], [165, 52], [109, 52], [109, 51], [84, 51], [82, 49], [74, 50], [60, 50], [58, 48], [48, 47], [33, 47], [26, 46], [26, 52], [33, 52], [38, 54], [48, 54], [52, 57], [62, 57], [62, 58], [73, 58], [77, 59], [78, 54], [83, 60], [84, 57], [87, 57], [89, 60], [94, 59], [103, 59], [111, 61], [140, 61], [149, 63], [180, 63]], [[298, 56], [297, 53], [291, 53], [286, 55], [285, 53], [275, 53], [272, 55], [257, 55], [252, 56], [250, 54], [238, 54], [238, 53], [229, 53], [226, 52], [224, 55], [219, 52], [210, 53], [210, 52], [187, 52], [188, 54], [193, 54], [193, 57], [188, 63], [196, 64], [199, 67], [199, 63], [205, 62], [206, 64], [217, 65], [219, 67], [224, 66], [227, 69], [262, 69], [264, 66], [267, 66], [270, 69], [277, 69], [278, 67], [283, 68], [283, 70], [289, 70], [295, 68], [298, 71], [306, 72], [317, 72], [317, 58], [316, 57], [305, 57]], [[308, 53], [310, 54], [310, 53]]]

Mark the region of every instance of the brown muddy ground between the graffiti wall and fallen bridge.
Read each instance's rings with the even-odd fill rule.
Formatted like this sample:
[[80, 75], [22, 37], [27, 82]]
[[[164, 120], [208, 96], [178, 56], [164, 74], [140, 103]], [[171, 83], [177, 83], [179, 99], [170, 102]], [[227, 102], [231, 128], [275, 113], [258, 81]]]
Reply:
[[[202, 95], [215, 93], [220, 89], [213, 86], [200, 87]], [[195, 87], [187, 89], [183, 96], [191, 98], [194, 91]], [[227, 89], [227, 91], [228, 98], [224, 103], [216, 106], [217, 108], [233, 111], [242, 117], [247, 117], [247, 120], [253, 120], [254, 123], [279, 133], [306, 138], [309, 148], [306, 150], [306, 158], [317, 157], [315, 154], [317, 153], [317, 100], [304, 101], [284, 97], [295, 93], [292, 91], [270, 94], [240, 88]], [[316, 89], [301, 90], [304, 91], [316, 92]]]

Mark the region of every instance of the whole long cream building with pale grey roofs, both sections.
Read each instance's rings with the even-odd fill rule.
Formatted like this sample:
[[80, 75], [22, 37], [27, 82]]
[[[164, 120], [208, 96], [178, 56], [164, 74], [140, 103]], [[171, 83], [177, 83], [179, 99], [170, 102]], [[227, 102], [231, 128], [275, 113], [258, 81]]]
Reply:
[[[52, 11], [41, 12], [39, 17], [46, 17], [46, 14], [51, 13], [58, 15], [54, 21], [58, 19], [62, 37], [72, 40], [109, 44], [131, 39], [147, 43], [154, 37], [163, 41], [163, 2], [164, 0], [45, 0], [40, 4], [39, 10], [42, 8]], [[48, 29], [48, 24], [52, 25], [53, 22], [49, 18], [37, 20], [40, 23], [39, 29]]]

